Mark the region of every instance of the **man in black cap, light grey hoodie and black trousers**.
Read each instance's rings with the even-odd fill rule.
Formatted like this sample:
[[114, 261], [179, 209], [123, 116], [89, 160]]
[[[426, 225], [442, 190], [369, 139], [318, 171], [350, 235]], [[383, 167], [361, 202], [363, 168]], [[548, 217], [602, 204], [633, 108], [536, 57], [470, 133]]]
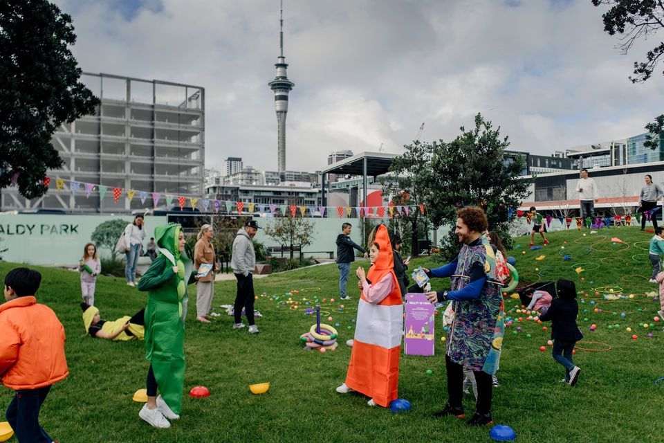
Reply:
[[253, 238], [261, 227], [256, 220], [247, 220], [244, 228], [240, 228], [233, 240], [233, 253], [230, 267], [237, 279], [237, 294], [233, 305], [235, 323], [233, 329], [244, 327], [242, 323], [242, 309], [246, 311], [250, 334], [257, 334], [258, 327], [254, 322], [254, 277], [256, 267], [256, 253]]

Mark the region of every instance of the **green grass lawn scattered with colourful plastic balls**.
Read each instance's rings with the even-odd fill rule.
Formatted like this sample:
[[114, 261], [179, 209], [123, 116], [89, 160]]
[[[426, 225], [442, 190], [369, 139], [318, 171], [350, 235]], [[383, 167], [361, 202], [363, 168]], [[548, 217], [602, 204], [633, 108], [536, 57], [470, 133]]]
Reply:
[[[510, 251], [517, 258], [522, 282], [569, 278], [574, 280], [585, 302], [580, 304], [578, 323], [584, 341], [611, 347], [608, 352], [578, 350], [575, 363], [582, 368], [575, 388], [558, 381], [562, 366], [539, 348], [550, 338], [533, 321], [506, 328], [497, 373], [501, 386], [494, 390], [492, 413], [497, 424], [508, 424], [518, 442], [660, 442], [662, 441], [664, 388], [654, 381], [664, 377], [662, 325], [654, 322], [658, 301], [646, 296], [656, 291], [647, 282], [651, 272], [647, 242], [652, 234], [638, 228], [603, 229], [597, 234], [576, 229], [548, 234], [551, 244], [531, 251], [529, 237], [519, 237], [520, 248]], [[611, 237], [625, 244], [613, 244]], [[566, 243], [564, 243], [566, 242]], [[560, 249], [564, 246], [564, 251]], [[525, 252], [523, 254], [522, 252]], [[569, 254], [570, 261], [563, 260]], [[544, 260], [536, 257], [545, 255]], [[368, 262], [356, 262], [367, 266]], [[414, 266], [434, 267], [432, 260], [413, 260]], [[0, 277], [17, 265], [0, 262]], [[581, 266], [584, 271], [576, 273]], [[260, 334], [247, 329], [232, 330], [232, 318], [213, 320], [211, 325], [195, 321], [196, 289], [191, 286], [187, 316], [185, 390], [207, 386], [211, 395], [192, 399], [185, 392], [182, 418], [172, 428], [151, 428], [138, 418], [142, 406], [131, 400], [133, 392], [145, 388], [147, 361], [142, 342], [114, 343], [84, 334], [79, 303], [78, 273], [39, 268], [42, 287], [37, 298], [52, 307], [67, 333], [69, 377], [55, 384], [42, 409], [42, 424], [61, 443], [75, 442], [482, 442], [489, 441], [488, 428], [469, 428], [455, 418], [433, 419], [432, 413], [445, 404], [444, 347], [442, 325], [436, 327], [436, 356], [403, 356], [400, 362], [399, 395], [412, 403], [409, 413], [394, 414], [385, 408], [369, 408], [365, 397], [339, 395], [334, 388], [344, 381], [351, 349], [344, 343], [353, 337], [358, 289], [338, 312], [338, 270], [334, 264], [315, 266], [255, 280], [259, 299], [256, 309]], [[583, 280], [582, 280], [583, 279]], [[351, 278], [349, 287], [355, 283]], [[232, 304], [234, 281], [217, 282], [214, 306]], [[434, 289], [449, 287], [448, 280], [434, 280]], [[603, 287], [603, 288], [602, 288]], [[599, 288], [596, 295], [593, 288]], [[604, 293], [634, 298], [604, 301]], [[305, 352], [299, 335], [314, 318], [304, 307], [282, 307], [284, 298], [304, 305], [319, 298], [340, 323], [340, 346], [335, 352]], [[265, 292], [266, 296], [261, 296]], [[585, 297], [584, 297], [585, 295]], [[280, 300], [270, 300], [278, 296]], [[114, 320], [132, 315], [145, 306], [146, 294], [124, 284], [122, 278], [100, 277], [95, 305], [102, 318]], [[306, 298], [307, 300], [304, 300]], [[326, 298], [328, 301], [322, 302]], [[594, 312], [590, 302], [602, 302]], [[506, 298], [508, 316], [517, 301]], [[640, 309], [640, 311], [639, 311]], [[587, 311], [585, 311], [587, 310]], [[625, 312], [622, 318], [620, 313]], [[616, 314], [614, 314], [616, 313]], [[325, 316], [327, 317], [327, 315]], [[522, 316], [526, 317], [526, 316]], [[587, 321], [584, 321], [587, 318]], [[653, 323], [645, 329], [640, 324]], [[597, 325], [594, 332], [589, 330]], [[614, 325], [619, 324], [619, 327]], [[612, 329], [609, 329], [609, 325]], [[513, 334], [516, 327], [522, 331]], [[350, 329], [349, 329], [350, 327]], [[633, 332], [627, 332], [631, 327]], [[653, 338], [647, 338], [652, 332]], [[0, 332], [1, 333], [1, 332]], [[531, 334], [527, 338], [526, 334]], [[632, 334], [638, 339], [633, 340]], [[427, 375], [432, 370], [432, 375]], [[251, 383], [269, 381], [265, 395], [252, 395]], [[0, 391], [0, 408], [6, 408], [12, 392]], [[474, 399], [465, 397], [466, 413], [474, 412]], [[4, 409], [3, 409], [4, 410]], [[470, 417], [470, 414], [468, 415]]]

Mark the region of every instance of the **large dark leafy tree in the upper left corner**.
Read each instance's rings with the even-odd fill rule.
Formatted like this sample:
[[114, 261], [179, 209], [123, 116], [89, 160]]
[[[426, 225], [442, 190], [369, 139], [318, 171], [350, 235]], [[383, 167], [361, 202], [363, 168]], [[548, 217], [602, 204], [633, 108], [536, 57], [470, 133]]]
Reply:
[[28, 199], [44, 195], [46, 170], [62, 166], [51, 136], [98, 105], [79, 82], [75, 42], [71, 17], [53, 3], [0, 2], [0, 188], [15, 181]]

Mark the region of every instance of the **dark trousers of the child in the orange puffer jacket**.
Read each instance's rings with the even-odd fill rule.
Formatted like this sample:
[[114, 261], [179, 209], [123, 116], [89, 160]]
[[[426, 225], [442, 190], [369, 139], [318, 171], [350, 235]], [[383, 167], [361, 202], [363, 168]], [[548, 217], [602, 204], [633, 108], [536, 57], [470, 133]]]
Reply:
[[21, 389], [7, 408], [5, 417], [12, 426], [19, 442], [51, 443], [53, 439], [48, 436], [44, 428], [39, 425], [39, 410], [48, 395], [50, 386], [38, 389]]

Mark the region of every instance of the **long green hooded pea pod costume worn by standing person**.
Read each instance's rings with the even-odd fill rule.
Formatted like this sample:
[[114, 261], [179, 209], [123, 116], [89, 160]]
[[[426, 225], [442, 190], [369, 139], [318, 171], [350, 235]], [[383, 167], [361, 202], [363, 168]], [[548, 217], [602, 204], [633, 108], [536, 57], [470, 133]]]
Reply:
[[[192, 261], [178, 248], [181, 226], [167, 224], [154, 230], [160, 255], [138, 282], [147, 292], [145, 358], [151, 363], [161, 396], [179, 414], [185, 381], [185, 317], [187, 283], [194, 281]], [[173, 272], [178, 266], [178, 273]]]

